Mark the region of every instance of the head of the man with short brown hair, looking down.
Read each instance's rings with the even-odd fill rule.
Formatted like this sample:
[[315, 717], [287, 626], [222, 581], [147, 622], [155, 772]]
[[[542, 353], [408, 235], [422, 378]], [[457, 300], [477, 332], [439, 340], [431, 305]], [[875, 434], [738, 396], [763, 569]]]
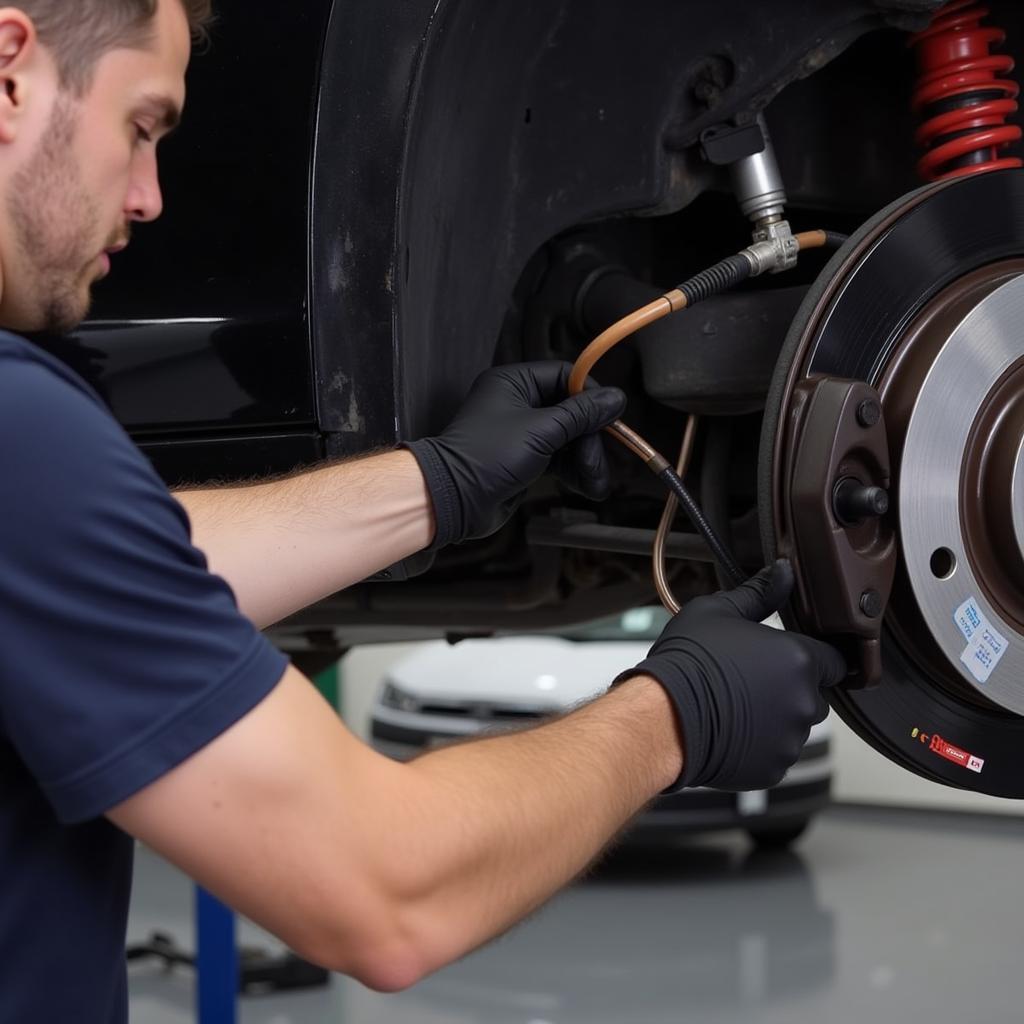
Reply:
[[156, 145], [209, 14], [210, 0], [0, 7], [0, 327], [76, 326], [131, 224], [160, 216]]

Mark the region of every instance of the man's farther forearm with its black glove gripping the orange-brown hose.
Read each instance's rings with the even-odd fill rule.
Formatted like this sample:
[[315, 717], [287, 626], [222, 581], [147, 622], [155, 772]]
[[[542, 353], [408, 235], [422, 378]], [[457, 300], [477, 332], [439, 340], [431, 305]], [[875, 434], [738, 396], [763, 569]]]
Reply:
[[211, 569], [266, 627], [431, 541], [443, 547], [494, 532], [549, 466], [572, 489], [605, 496], [610, 474], [596, 432], [622, 413], [625, 395], [593, 388], [566, 398], [570, 369], [487, 371], [438, 437], [406, 451], [175, 497]]

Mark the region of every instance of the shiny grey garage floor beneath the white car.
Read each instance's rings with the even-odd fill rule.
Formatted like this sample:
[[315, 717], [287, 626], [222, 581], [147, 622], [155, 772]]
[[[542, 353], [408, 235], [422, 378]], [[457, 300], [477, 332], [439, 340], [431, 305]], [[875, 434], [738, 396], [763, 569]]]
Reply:
[[[836, 808], [791, 853], [723, 835], [616, 856], [408, 992], [336, 977], [246, 997], [240, 1021], [1008, 1024], [1024, 1007], [1022, 871], [1024, 820]], [[157, 928], [190, 945], [190, 900], [141, 852], [129, 940]], [[187, 971], [134, 965], [130, 987], [132, 1024], [194, 1019]]]

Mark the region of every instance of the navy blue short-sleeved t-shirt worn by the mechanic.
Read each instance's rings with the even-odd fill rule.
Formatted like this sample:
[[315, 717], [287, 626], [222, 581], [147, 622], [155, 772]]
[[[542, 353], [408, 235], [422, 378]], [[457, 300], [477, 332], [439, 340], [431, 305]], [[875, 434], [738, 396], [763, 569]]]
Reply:
[[0, 1024], [122, 1024], [133, 841], [102, 817], [285, 657], [92, 389], [0, 333]]

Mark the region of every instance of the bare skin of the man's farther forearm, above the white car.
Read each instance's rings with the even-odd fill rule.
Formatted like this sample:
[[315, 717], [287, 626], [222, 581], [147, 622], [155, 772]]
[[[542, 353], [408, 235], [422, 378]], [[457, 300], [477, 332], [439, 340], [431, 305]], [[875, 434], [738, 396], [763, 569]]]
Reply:
[[434, 529], [423, 475], [408, 452], [175, 497], [211, 571], [260, 627], [422, 550]]

